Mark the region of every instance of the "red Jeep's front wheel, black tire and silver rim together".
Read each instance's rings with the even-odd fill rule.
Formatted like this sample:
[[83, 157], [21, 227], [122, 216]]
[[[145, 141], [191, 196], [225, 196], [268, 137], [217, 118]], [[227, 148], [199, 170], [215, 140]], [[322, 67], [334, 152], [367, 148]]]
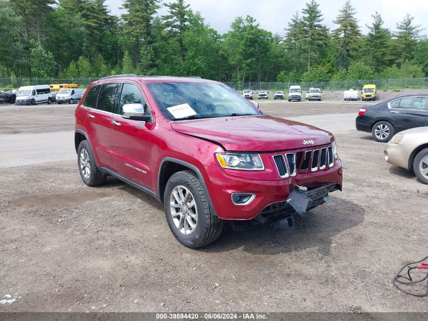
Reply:
[[164, 207], [172, 234], [184, 246], [205, 246], [220, 236], [223, 220], [211, 212], [205, 189], [193, 171], [183, 170], [170, 177]]

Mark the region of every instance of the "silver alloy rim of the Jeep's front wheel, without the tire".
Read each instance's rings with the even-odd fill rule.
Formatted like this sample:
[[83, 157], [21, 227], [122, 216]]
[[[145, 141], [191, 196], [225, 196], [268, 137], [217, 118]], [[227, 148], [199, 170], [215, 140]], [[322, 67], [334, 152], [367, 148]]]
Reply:
[[198, 207], [192, 193], [185, 186], [176, 186], [170, 196], [171, 217], [181, 234], [190, 235], [198, 224]]

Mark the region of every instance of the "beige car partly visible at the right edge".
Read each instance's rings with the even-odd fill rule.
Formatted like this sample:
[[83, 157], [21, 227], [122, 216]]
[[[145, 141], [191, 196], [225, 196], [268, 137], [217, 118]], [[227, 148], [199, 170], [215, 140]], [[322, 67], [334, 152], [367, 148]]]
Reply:
[[428, 126], [395, 134], [383, 153], [388, 163], [413, 169], [419, 181], [428, 184]]

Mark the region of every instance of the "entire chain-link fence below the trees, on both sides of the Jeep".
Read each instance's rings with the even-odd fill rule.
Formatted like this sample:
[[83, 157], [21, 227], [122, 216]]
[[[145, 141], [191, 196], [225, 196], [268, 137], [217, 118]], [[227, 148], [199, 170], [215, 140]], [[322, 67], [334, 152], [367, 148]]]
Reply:
[[[97, 78], [0, 78], [0, 88], [19, 88], [30, 85], [48, 84], [77, 84], [80, 88], [86, 88]], [[321, 88], [322, 90], [348, 90], [360, 89], [366, 84], [375, 84], [379, 90], [394, 89], [428, 89], [428, 78], [403, 78], [403, 79], [381, 79], [381, 80], [356, 80], [356, 81], [330, 81], [330, 82], [310, 82], [310, 83], [226, 83], [236, 90], [283, 90], [288, 91], [292, 85], [300, 85], [302, 91], [309, 88]]]

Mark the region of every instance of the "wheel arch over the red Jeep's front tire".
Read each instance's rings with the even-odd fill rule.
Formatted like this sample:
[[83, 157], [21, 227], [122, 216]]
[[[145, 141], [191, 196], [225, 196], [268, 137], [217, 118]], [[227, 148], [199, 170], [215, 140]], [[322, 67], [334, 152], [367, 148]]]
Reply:
[[198, 179], [200, 180], [202, 187], [205, 190], [205, 195], [207, 196], [207, 200], [208, 200], [208, 203], [210, 204], [211, 211], [215, 216], [217, 216], [210, 194], [208, 192], [207, 185], [205, 184], [204, 176], [202, 175], [199, 168], [193, 164], [190, 164], [188, 162], [182, 161], [180, 159], [172, 158], [172, 157], [165, 157], [164, 159], [162, 159], [161, 164], [159, 166], [158, 195], [162, 203], [164, 202], [165, 187], [170, 177], [179, 171], [188, 170], [188, 169], [192, 170], [196, 174], [196, 176], [198, 176]]

